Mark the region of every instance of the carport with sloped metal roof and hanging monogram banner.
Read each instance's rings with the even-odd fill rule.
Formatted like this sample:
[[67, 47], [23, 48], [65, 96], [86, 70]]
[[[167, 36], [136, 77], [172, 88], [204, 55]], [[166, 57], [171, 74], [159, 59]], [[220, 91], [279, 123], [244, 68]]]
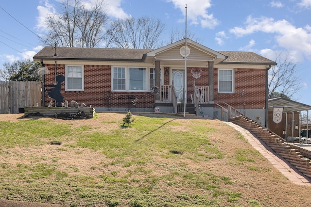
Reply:
[[[311, 110], [311, 106], [310, 105], [307, 105], [307, 104], [303, 104], [303, 103], [299, 103], [297, 101], [293, 101], [293, 100], [290, 100], [290, 99], [287, 99], [287, 98], [284, 98], [284, 97], [278, 97], [278, 98], [273, 98], [273, 99], [269, 99], [268, 100], [268, 111], [274, 111], [274, 108], [279, 108], [279, 109], [282, 109], [282, 113], [284, 114], [285, 113], [285, 117], [283, 116], [282, 114], [282, 117], [285, 118], [285, 121], [282, 121], [280, 122], [280, 124], [283, 124], [283, 131], [282, 131], [282, 134], [285, 135], [285, 138], [287, 137], [287, 135], [289, 134], [289, 131], [288, 131], [288, 125], [290, 123], [290, 126], [291, 126], [291, 134], [292, 136], [294, 135], [294, 129], [297, 130], [299, 129], [299, 136], [300, 136], [300, 113], [301, 111], [307, 111], [307, 118], [309, 119], [309, 110]], [[298, 112], [299, 113], [299, 117], [298, 117], [298, 120], [294, 119], [294, 113], [295, 112]], [[275, 113], [275, 112], [273, 112]], [[290, 114], [290, 118], [291, 120], [288, 120], [288, 114]], [[273, 114], [273, 116], [275, 116], [275, 114]], [[275, 122], [273, 121], [273, 119], [268, 119], [268, 124], [270, 123], [270, 126], [273, 126], [272, 124], [274, 124]], [[295, 123], [295, 125], [294, 125]], [[272, 131], [273, 128], [270, 127], [270, 129]], [[309, 126], [308, 126], [308, 122], [307, 122], [307, 137], [308, 137], [308, 129], [309, 129]], [[279, 136], [281, 136], [280, 134], [278, 134]]]

